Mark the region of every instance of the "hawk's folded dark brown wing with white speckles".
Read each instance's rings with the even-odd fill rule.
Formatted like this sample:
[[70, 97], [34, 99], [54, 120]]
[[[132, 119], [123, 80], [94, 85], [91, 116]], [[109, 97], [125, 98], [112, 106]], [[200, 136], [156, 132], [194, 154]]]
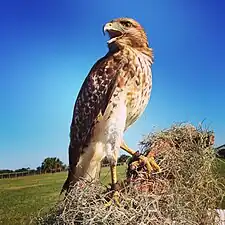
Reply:
[[88, 146], [98, 115], [104, 114], [117, 86], [118, 71], [123, 63], [117, 61], [116, 64], [110, 56], [100, 59], [92, 67], [78, 94], [70, 127], [69, 174], [61, 193], [68, 190], [74, 180], [73, 174], [80, 154]]

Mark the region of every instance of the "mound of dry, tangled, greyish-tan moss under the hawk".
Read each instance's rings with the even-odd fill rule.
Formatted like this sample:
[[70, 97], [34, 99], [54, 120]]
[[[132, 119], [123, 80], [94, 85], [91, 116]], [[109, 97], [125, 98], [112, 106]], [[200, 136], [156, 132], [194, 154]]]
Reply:
[[141, 142], [142, 150], [154, 153], [162, 172], [143, 179], [145, 165], [132, 167], [133, 158], [120, 207], [106, 208], [105, 188], [81, 181], [39, 224], [215, 224], [224, 190], [213, 172], [211, 139], [210, 132], [190, 125], [150, 134]]

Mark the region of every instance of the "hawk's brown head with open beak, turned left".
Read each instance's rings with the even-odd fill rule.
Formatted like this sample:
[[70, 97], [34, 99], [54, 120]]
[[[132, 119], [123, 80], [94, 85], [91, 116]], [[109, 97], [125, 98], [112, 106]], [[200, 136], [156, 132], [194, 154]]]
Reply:
[[108, 45], [148, 47], [147, 35], [142, 26], [131, 18], [118, 18], [106, 23], [103, 32], [109, 34]]

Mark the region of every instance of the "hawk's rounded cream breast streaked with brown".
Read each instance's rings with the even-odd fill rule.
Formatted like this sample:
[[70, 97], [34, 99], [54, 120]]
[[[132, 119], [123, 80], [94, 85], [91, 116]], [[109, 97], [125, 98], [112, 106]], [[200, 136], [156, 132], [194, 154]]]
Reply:
[[151, 88], [152, 73], [148, 56], [139, 53], [135, 55], [133, 66], [128, 68], [126, 77], [126, 127], [134, 123], [143, 113], [148, 104]]

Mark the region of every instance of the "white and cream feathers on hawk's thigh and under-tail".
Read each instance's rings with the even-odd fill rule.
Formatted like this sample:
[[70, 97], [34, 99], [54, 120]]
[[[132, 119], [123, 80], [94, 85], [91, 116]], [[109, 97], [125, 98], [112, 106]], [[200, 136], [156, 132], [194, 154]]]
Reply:
[[98, 179], [100, 163], [104, 157], [107, 157], [111, 164], [117, 163], [127, 112], [125, 93], [117, 89], [115, 92], [118, 95], [111, 100], [102, 120], [94, 129], [89, 146], [83, 150], [84, 153], [76, 166], [76, 177], [83, 177], [87, 180]]

